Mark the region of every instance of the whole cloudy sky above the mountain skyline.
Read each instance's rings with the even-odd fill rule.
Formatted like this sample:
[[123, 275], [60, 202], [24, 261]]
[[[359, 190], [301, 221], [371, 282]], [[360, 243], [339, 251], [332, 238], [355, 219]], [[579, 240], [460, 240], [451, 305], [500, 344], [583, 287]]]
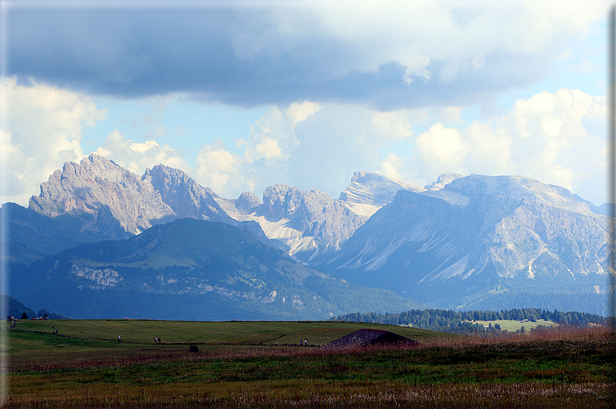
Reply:
[[606, 197], [606, 1], [0, 0], [0, 202], [95, 152], [225, 198], [356, 171]]

